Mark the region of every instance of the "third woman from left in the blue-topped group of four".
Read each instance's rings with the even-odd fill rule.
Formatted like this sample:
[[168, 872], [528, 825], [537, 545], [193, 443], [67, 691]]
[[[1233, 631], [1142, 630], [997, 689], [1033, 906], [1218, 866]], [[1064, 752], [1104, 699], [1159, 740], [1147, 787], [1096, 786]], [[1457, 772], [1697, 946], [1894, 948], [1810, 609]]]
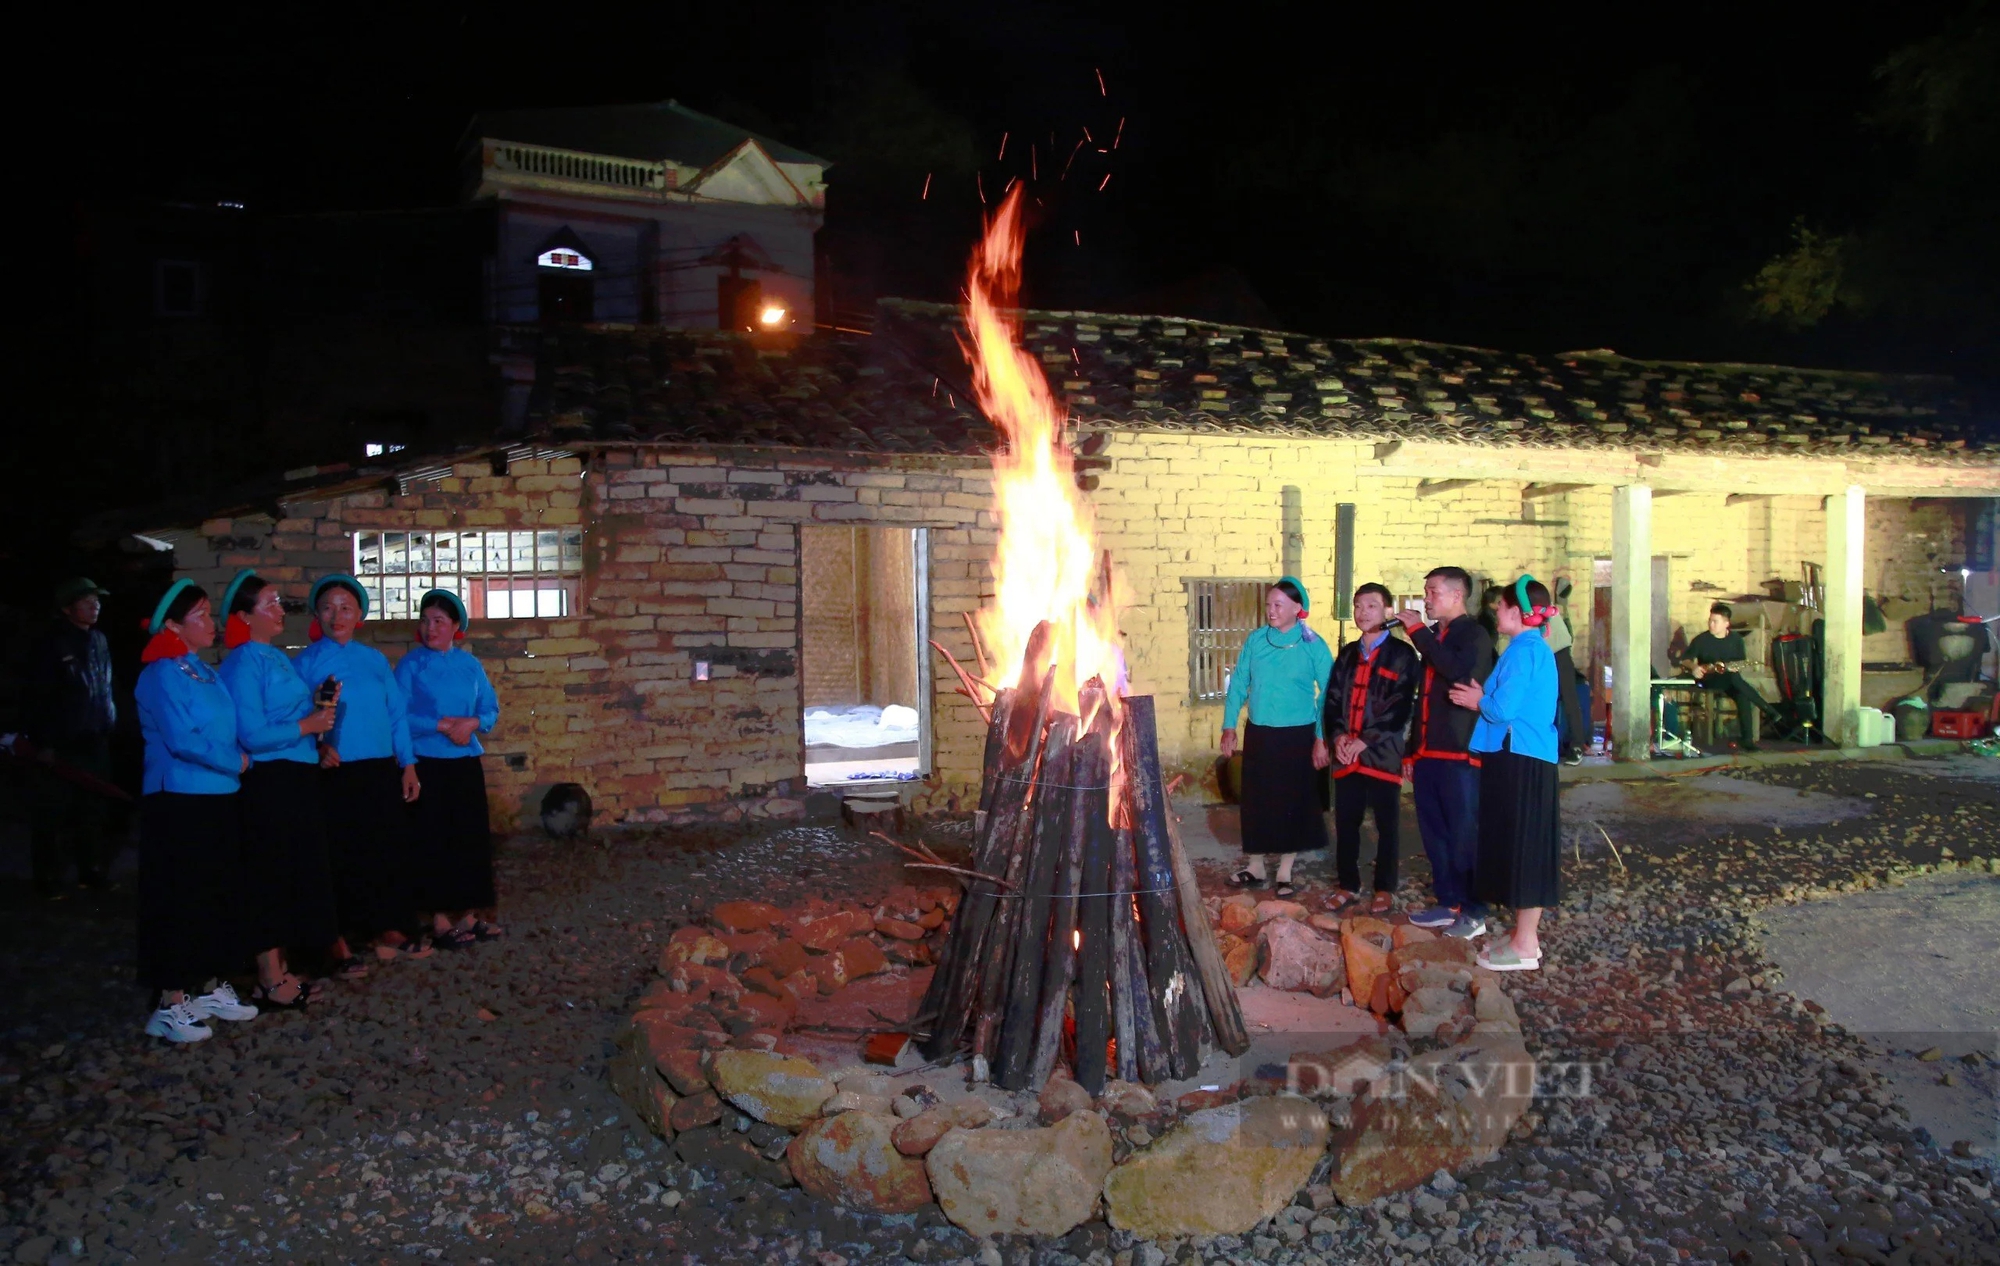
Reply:
[[[336, 682], [334, 728], [320, 736], [320, 802], [326, 806], [328, 856], [342, 944], [374, 942], [376, 958], [422, 958], [412, 940], [410, 816], [416, 800], [416, 752], [402, 686], [388, 658], [354, 640], [368, 616], [368, 590], [354, 576], [320, 576], [310, 604], [320, 640], [298, 654], [298, 676], [318, 692]], [[336, 950], [336, 952], [338, 952]], [[344, 970], [352, 970], [344, 964]]]

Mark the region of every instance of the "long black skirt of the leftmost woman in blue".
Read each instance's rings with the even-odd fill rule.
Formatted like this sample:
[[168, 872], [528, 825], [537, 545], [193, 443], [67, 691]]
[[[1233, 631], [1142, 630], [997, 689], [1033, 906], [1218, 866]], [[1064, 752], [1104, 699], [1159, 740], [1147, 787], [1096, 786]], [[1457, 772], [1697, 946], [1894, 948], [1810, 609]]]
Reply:
[[138, 806], [138, 980], [192, 990], [250, 962], [236, 794], [152, 792]]

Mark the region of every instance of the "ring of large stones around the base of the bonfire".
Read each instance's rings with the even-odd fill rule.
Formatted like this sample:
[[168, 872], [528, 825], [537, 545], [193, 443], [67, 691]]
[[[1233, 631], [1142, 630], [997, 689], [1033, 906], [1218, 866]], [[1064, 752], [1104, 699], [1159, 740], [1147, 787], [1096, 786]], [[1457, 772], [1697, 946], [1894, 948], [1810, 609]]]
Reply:
[[614, 1088], [688, 1164], [868, 1212], [936, 1202], [978, 1236], [1104, 1218], [1146, 1238], [1248, 1232], [1316, 1174], [1348, 1204], [1406, 1190], [1492, 1156], [1532, 1098], [1514, 1006], [1466, 942], [1244, 896], [1206, 902], [1238, 984], [1352, 1000], [1372, 1036], [1214, 1060], [1212, 1088], [1112, 1080], [1098, 1096], [1060, 1066], [1008, 1092], [970, 1080], [970, 1060], [924, 1064], [892, 1030], [958, 898], [716, 906], [662, 950]]

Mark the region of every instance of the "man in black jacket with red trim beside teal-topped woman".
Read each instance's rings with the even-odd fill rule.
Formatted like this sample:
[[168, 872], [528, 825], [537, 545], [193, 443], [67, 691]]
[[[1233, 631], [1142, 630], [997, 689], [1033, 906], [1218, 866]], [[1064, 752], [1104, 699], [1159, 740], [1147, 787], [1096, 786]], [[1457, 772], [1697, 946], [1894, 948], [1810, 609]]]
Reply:
[[1400, 852], [1402, 744], [1416, 698], [1416, 652], [1390, 636], [1394, 598], [1380, 584], [1354, 590], [1354, 624], [1360, 640], [1334, 656], [1326, 686], [1326, 742], [1334, 754], [1334, 856], [1340, 888], [1334, 908], [1354, 902], [1362, 886], [1362, 814], [1376, 822], [1372, 912], [1394, 904]]

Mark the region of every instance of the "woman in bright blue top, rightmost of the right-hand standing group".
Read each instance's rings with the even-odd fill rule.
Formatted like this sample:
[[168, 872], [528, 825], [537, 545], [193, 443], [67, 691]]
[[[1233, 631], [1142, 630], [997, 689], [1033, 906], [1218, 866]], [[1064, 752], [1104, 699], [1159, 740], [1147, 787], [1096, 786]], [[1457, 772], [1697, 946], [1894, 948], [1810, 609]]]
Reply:
[[1494, 622], [1510, 640], [1482, 686], [1452, 686], [1452, 702], [1478, 708], [1468, 748], [1480, 758], [1480, 856], [1474, 900], [1514, 906], [1514, 932], [1480, 952], [1482, 968], [1542, 966], [1542, 910], [1562, 898], [1562, 818], [1556, 766], [1556, 652], [1542, 638], [1554, 614], [1548, 588], [1522, 576], [1500, 590]]

